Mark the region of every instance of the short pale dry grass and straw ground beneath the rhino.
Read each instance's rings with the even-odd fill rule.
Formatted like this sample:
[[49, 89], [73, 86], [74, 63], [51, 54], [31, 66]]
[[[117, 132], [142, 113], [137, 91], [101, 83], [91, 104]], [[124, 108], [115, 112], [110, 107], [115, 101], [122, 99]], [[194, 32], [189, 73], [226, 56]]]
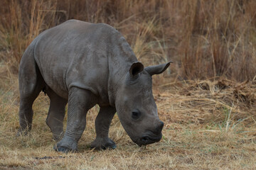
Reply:
[[117, 149], [90, 149], [99, 110], [95, 106], [87, 114], [78, 152], [64, 154], [53, 150], [45, 123], [49, 101], [43, 92], [33, 105], [30, 134], [15, 137], [18, 80], [1, 79], [0, 169], [256, 169], [255, 81], [154, 84], [163, 138], [145, 148], [129, 139], [115, 115], [110, 137]]

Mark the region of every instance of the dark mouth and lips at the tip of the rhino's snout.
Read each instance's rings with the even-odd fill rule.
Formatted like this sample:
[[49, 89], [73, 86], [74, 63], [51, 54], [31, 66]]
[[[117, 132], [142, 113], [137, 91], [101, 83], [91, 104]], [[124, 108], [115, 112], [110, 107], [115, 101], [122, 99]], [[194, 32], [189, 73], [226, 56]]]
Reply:
[[161, 133], [160, 135], [154, 135], [154, 133], [152, 132], [147, 132], [141, 138], [139, 138], [136, 143], [137, 145], [139, 145], [139, 147], [141, 147], [142, 145], [149, 145], [155, 142], [159, 142], [161, 140], [161, 137]]

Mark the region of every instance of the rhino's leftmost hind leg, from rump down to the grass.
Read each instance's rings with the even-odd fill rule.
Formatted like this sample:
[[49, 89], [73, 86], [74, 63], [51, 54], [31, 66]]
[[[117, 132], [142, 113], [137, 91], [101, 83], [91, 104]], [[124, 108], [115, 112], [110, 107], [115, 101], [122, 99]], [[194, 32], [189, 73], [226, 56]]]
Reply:
[[26, 135], [32, 126], [32, 105], [36, 97], [45, 86], [43, 77], [33, 58], [33, 48], [28, 47], [24, 53], [20, 71], [18, 73], [20, 91], [19, 124], [20, 128], [16, 136]]

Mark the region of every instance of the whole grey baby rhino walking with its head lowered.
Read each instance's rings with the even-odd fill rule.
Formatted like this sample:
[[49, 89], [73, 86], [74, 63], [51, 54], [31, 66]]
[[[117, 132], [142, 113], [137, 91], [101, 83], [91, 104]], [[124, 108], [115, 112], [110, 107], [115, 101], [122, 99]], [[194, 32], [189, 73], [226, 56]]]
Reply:
[[[91, 147], [116, 147], [108, 136], [116, 112], [137, 145], [159, 142], [164, 123], [159, 120], [152, 95], [151, 76], [161, 74], [169, 64], [144, 68], [121, 33], [104, 23], [70, 20], [50, 28], [31, 42], [21, 59], [17, 135], [31, 130], [33, 101], [44, 91], [50, 98], [46, 124], [53, 138], [59, 141], [56, 151], [78, 149], [87, 111], [96, 104], [100, 112]], [[64, 133], [67, 103], [68, 123]]]

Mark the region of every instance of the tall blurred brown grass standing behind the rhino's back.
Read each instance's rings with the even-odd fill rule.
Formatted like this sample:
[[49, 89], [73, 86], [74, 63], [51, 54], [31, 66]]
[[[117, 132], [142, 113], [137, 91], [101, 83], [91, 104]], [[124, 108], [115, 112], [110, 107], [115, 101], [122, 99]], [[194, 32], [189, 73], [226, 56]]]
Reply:
[[252, 80], [255, 8], [255, 0], [1, 0], [0, 62], [17, 74], [39, 33], [78, 19], [117, 28], [146, 65], [173, 61], [175, 80]]

